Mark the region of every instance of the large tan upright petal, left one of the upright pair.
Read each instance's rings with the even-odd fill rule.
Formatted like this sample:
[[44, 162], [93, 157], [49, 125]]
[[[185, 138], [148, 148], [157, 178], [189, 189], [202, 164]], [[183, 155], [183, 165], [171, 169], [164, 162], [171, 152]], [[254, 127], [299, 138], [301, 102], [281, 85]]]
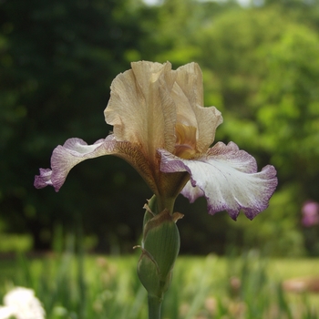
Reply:
[[131, 66], [112, 82], [105, 118], [117, 140], [138, 143], [152, 160], [156, 149], [174, 148], [176, 110], [170, 90], [175, 76], [169, 62]]

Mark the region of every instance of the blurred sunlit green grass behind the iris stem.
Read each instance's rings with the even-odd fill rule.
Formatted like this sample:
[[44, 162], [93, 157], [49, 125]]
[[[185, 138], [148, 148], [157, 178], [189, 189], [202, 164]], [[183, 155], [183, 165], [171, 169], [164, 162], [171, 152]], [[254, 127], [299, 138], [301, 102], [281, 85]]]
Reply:
[[[47, 319], [147, 318], [139, 255], [83, 256], [0, 261], [0, 297], [13, 286], [36, 291]], [[269, 260], [256, 252], [240, 257], [179, 257], [163, 304], [163, 319], [312, 319], [319, 294], [286, 293], [281, 282], [319, 277], [319, 259]]]

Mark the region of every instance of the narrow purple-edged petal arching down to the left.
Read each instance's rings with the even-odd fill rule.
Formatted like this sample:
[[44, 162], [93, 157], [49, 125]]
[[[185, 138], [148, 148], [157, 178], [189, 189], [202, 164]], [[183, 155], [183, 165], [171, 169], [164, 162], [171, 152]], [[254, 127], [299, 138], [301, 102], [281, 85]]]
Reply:
[[83, 160], [112, 154], [116, 146], [113, 136], [98, 139], [94, 144], [87, 145], [83, 139], [67, 139], [63, 146], [58, 145], [51, 157], [51, 170], [40, 169], [35, 178], [35, 187], [42, 189], [47, 185], [58, 191], [67, 179], [68, 172]]

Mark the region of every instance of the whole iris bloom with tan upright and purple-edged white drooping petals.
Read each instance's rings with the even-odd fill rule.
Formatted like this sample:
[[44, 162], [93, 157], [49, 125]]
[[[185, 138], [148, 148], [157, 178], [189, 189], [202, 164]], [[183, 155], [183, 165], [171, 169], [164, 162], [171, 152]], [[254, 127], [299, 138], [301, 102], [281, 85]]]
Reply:
[[104, 114], [113, 132], [93, 145], [67, 139], [57, 146], [36, 188], [58, 191], [81, 161], [115, 155], [139, 171], [160, 211], [172, 211], [180, 193], [190, 202], [205, 196], [209, 213], [228, 211], [234, 220], [241, 210], [252, 219], [267, 208], [276, 170], [267, 165], [258, 172], [256, 160], [233, 142], [211, 147], [222, 117], [217, 108], [203, 107], [198, 64], [172, 70], [169, 62], [132, 63], [113, 80]]

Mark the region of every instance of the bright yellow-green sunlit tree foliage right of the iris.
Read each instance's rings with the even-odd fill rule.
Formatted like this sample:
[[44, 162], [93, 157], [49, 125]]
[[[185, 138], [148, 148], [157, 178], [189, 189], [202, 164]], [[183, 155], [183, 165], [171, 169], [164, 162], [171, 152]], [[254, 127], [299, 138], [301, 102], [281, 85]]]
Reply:
[[275, 7], [222, 15], [198, 39], [206, 49], [197, 58], [220, 89], [221, 139], [278, 170], [279, 188], [258, 231], [245, 221], [236, 225], [251, 242], [275, 238], [277, 253], [301, 247], [302, 203], [319, 196], [318, 43], [312, 26]]

